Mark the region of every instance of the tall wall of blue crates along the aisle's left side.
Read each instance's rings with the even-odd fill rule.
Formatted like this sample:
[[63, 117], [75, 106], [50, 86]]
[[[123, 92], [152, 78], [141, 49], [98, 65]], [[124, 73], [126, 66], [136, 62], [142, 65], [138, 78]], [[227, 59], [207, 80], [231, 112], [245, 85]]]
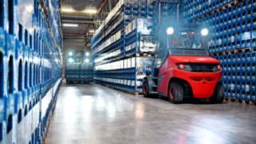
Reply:
[[[59, 1], [47, 1], [57, 10], [48, 14], [50, 3], [33, 2], [0, 5], [1, 143], [41, 143], [62, 83]], [[26, 4], [34, 9], [19, 12]]]

